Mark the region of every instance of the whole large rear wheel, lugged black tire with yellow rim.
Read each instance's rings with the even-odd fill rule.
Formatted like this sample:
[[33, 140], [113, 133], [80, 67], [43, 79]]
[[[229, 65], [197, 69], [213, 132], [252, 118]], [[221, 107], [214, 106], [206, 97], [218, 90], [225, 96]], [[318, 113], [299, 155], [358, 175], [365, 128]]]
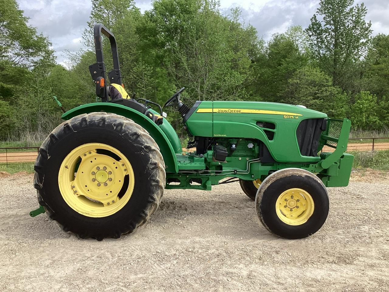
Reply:
[[147, 222], [165, 186], [158, 145], [132, 120], [81, 114], [46, 138], [34, 187], [47, 216], [80, 238], [119, 238]]

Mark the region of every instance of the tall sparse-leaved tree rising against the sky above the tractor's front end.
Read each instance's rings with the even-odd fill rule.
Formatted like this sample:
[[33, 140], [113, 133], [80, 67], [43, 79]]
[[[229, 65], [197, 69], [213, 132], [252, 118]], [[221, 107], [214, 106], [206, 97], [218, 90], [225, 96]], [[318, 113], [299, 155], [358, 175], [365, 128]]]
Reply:
[[331, 75], [333, 85], [345, 91], [353, 90], [372, 32], [364, 4], [353, 4], [354, 0], [321, 0], [307, 28], [312, 55]]

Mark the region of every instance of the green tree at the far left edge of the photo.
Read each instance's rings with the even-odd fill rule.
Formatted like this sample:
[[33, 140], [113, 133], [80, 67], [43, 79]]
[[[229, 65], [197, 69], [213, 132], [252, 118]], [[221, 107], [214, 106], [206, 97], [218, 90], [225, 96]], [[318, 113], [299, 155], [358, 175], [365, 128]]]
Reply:
[[[49, 70], [55, 61], [47, 37], [38, 35], [27, 22], [28, 18], [23, 16], [16, 1], [0, 0], [0, 134], [3, 137], [15, 133], [16, 129], [11, 128], [14, 125], [18, 125], [19, 132], [36, 130], [30, 125], [23, 128], [25, 118], [36, 116], [33, 113], [37, 106], [32, 95], [33, 79], [40, 70]], [[23, 99], [26, 94], [30, 98]], [[30, 116], [22, 114], [21, 99]], [[45, 124], [42, 117], [40, 125]], [[38, 124], [34, 123], [33, 127]]]

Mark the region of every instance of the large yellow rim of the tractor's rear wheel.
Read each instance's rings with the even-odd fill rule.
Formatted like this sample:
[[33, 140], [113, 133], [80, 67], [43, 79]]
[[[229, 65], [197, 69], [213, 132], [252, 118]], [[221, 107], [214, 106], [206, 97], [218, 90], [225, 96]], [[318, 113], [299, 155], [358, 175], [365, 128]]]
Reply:
[[[124, 184], [126, 176], [128, 185]], [[130, 200], [134, 180], [128, 159], [116, 148], [100, 143], [87, 143], [72, 150], [58, 172], [63, 199], [70, 208], [88, 217], [106, 217], [122, 209]], [[126, 190], [119, 197], [123, 186]]]

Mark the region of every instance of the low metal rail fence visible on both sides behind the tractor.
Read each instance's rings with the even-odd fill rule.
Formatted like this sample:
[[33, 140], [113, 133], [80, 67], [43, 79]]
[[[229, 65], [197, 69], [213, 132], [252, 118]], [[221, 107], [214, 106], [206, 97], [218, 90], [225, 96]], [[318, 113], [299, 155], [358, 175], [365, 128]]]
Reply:
[[[389, 137], [350, 138], [349, 151], [389, 150]], [[3, 147], [0, 148], [0, 165], [30, 164], [37, 158], [39, 147]], [[332, 152], [334, 148], [324, 146], [323, 152]]]

